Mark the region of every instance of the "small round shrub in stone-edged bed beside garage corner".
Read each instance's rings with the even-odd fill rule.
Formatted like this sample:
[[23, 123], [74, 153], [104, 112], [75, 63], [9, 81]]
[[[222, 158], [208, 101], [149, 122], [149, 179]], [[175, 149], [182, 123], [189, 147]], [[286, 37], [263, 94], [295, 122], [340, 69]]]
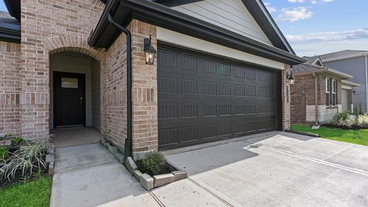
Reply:
[[138, 169], [148, 175], [159, 175], [166, 167], [166, 159], [161, 152], [148, 152], [143, 159], [137, 161]]

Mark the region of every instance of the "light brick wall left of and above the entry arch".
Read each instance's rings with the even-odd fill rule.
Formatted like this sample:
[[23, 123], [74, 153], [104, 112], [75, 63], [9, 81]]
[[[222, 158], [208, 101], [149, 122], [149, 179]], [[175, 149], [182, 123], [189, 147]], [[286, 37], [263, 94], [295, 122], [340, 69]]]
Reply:
[[[77, 50], [99, 58], [87, 38], [101, 16], [98, 0], [23, 0], [21, 2], [21, 134], [49, 134], [49, 52]], [[101, 129], [101, 131], [103, 131]]]

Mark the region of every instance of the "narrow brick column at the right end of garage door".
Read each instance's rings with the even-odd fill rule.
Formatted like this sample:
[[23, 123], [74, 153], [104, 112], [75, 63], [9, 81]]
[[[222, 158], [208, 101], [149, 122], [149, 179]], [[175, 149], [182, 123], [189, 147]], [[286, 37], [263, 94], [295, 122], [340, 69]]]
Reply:
[[[282, 70], [282, 130], [290, 129], [290, 86], [289, 81], [287, 80], [287, 72], [290, 71], [290, 66], [284, 66], [284, 70]], [[298, 80], [296, 80], [298, 81]], [[287, 88], [289, 88], [289, 94], [287, 93]], [[289, 96], [289, 102], [288, 97]]]

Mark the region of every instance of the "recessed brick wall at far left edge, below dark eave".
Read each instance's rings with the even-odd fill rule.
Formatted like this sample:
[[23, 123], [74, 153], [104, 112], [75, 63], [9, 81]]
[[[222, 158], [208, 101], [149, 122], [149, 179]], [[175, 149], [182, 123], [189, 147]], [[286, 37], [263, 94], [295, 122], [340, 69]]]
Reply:
[[21, 133], [20, 45], [0, 41], [0, 135]]

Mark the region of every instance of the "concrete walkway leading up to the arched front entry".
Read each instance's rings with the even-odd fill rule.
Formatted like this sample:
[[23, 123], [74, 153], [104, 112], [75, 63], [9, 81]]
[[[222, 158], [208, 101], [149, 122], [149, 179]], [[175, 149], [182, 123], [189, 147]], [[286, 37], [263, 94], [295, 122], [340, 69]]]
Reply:
[[158, 206], [101, 144], [56, 149], [50, 206]]

